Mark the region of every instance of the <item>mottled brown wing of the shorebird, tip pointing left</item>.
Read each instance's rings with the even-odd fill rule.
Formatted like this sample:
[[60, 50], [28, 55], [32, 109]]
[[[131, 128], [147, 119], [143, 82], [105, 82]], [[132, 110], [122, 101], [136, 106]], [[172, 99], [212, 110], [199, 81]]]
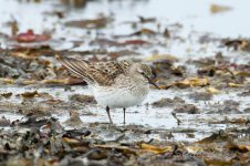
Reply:
[[127, 74], [128, 66], [133, 63], [132, 61], [91, 63], [69, 58], [61, 59], [60, 62], [75, 76], [101, 86], [111, 86], [119, 74]]

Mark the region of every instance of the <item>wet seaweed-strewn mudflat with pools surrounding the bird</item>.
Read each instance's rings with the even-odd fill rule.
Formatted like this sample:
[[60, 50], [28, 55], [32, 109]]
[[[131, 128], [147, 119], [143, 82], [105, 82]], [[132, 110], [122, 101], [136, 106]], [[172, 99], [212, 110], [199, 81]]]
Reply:
[[[249, 164], [247, 4], [0, 2], [0, 163]], [[110, 125], [60, 55], [144, 62], [162, 90], [129, 107], [126, 125], [113, 110]]]

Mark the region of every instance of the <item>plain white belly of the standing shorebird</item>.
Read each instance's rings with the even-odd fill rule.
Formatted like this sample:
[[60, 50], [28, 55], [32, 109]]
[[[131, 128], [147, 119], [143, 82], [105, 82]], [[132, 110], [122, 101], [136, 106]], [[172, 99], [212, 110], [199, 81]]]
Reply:
[[94, 87], [94, 96], [102, 106], [111, 108], [129, 107], [140, 104], [147, 96], [149, 85], [134, 89]]

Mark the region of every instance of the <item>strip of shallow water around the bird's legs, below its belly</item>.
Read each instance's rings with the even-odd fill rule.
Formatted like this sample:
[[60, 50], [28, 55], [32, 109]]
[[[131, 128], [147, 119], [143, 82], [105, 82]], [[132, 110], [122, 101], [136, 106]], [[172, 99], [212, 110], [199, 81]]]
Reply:
[[[33, 89], [33, 87], [3, 87], [1, 89], [1, 92], [12, 92], [12, 98], [9, 98], [7, 101], [21, 103], [22, 100], [15, 97], [17, 94], [23, 93], [23, 92], [33, 92], [38, 91], [39, 93], [49, 93], [51, 94], [54, 100], [62, 100], [62, 101], [69, 101], [67, 96], [72, 94], [84, 94], [84, 95], [91, 95], [91, 92], [86, 87], [72, 87], [71, 91], [64, 91], [64, 89], [46, 89], [46, 87], [40, 87], [40, 89]], [[221, 123], [226, 118], [228, 120], [249, 120], [250, 114], [186, 114], [186, 113], [177, 113], [177, 117], [180, 120], [180, 124], [178, 125], [177, 120], [171, 115], [173, 107], [154, 107], [150, 105], [150, 103], [160, 100], [162, 97], [170, 97], [174, 98], [175, 96], [179, 96], [184, 100], [188, 101], [188, 97], [183, 92], [176, 92], [173, 90], [168, 91], [158, 91], [153, 90], [149, 94], [148, 98], [139, 106], [129, 107], [126, 111], [126, 125], [135, 125], [135, 126], [144, 126], [146, 128], [150, 128], [154, 131], [166, 131], [166, 132], [173, 132], [174, 141], [198, 141], [205, 136], [210, 135], [211, 133], [216, 133], [220, 129], [230, 129], [235, 127], [244, 127], [241, 124], [231, 124], [231, 123]], [[212, 101], [209, 101], [210, 103], [216, 103], [218, 101], [229, 100], [232, 98], [233, 95], [227, 95], [221, 94], [220, 96], [215, 97]], [[235, 97], [235, 101], [240, 101], [243, 103], [240, 107], [244, 108], [246, 105], [249, 105], [247, 102], [248, 98], [243, 98], [246, 101], [241, 101], [241, 97]], [[149, 104], [147, 106], [147, 103]], [[188, 101], [188, 103], [196, 104], [201, 111], [207, 106], [204, 102], [191, 102], [191, 100]], [[35, 103], [34, 103], [35, 104]], [[79, 104], [80, 106], [84, 106], [84, 104]], [[17, 112], [17, 111], [15, 111]], [[84, 124], [88, 123], [107, 123], [108, 118], [105, 112], [104, 107], [97, 106], [97, 105], [86, 105], [83, 110], [77, 110], [80, 113], [80, 118]], [[117, 126], [123, 126], [123, 111], [122, 110], [112, 110], [111, 115], [113, 118], [113, 122]], [[7, 120], [15, 121], [18, 118], [23, 117], [20, 114], [15, 113], [2, 113], [0, 116], [4, 116]], [[52, 116], [55, 118], [59, 118], [61, 123], [65, 122], [70, 114], [67, 111], [62, 110], [62, 113], [52, 113]], [[72, 128], [72, 127], [70, 127]], [[187, 133], [194, 133], [195, 137], [188, 137], [185, 131], [191, 129], [194, 132], [187, 132]], [[181, 132], [184, 131], [184, 133]], [[153, 136], [154, 137], [154, 136]], [[159, 137], [158, 135], [155, 136], [155, 138]], [[160, 138], [163, 139], [163, 138]]]

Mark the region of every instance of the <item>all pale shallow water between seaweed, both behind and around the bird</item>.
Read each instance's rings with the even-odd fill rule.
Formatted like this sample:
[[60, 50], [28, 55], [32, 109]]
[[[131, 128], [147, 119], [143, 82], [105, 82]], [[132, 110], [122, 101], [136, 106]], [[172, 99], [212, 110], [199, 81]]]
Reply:
[[[222, 13], [211, 13], [210, 4], [218, 3], [232, 8], [230, 11]], [[163, 31], [166, 27], [171, 30], [171, 39], [166, 40], [159, 38], [159, 41], [150, 39], [154, 46], [137, 48], [136, 51], [140, 55], [136, 59], [145, 59], [156, 53], [173, 54], [179, 59], [177, 64], [185, 64], [187, 60], [196, 60], [200, 58], [211, 56], [216, 52], [222, 52], [230, 61], [236, 64], [247, 64], [250, 62], [249, 53], [236, 52], [227, 48], [220, 48], [221, 44], [218, 41], [210, 43], [199, 43], [200, 37], [209, 34], [212, 38], [238, 38], [239, 35], [250, 37], [250, 20], [248, 15], [250, 2], [248, 0], [240, 1], [212, 1], [212, 0], [189, 0], [189, 1], [170, 1], [170, 0], [142, 0], [142, 1], [93, 1], [88, 2], [85, 8], [72, 10], [72, 8], [65, 8], [59, 4], [56, 1], [44, 1], [37, 3], [20, 3], [19, 1], [0, 1], [0, 28], [2, 33], [10, 34], [9, 27], [6, 23], [10, 20], [17, 20], [20, 22], [19, 30], [27, 31], [33, 29], [35, 33], [55, 29], [53, 33], [53, 45], [55, 50], [73, 50], [73, 51], [86, 51], [92, 49], [100, 49], [98, 45], [91, 45], [88, 42], [92, 39], [101, 35], [102, 38], [110, 39], [114, 35], [131, 34], [135, 31], [132, 29], [129, 21], [137, 21], [138, 15], [145, 18], [156, 18], [160, 25], [156, 23], [143, 24], [139, 28], [149, 28], [155, 31]], [[52, 12], [56, 10], [66, 10], [67, 14], [64, 19], [60, 20], [56, 17], [48, 17], [44, 12]], [[96, 30], [87, 33], [87, 30], [81, 30], [77, 28], [65, 28], [62, 22], [77, 19], [92, 19], [96, 15], [103, 14], [113, 18], [115, 21], [108, 24], [106, 29]], [[239, 19], [242, 18], [242, 19]], [[180, 23], [180, 28], [178, 27]], [[137, 28], [137, 29], [139, 29]], [[101, 33], [97, 35], [97, 32]], [[66, 38], [65, 41], [60, 41], [61, 38]], [[176, 40], [180, 38], [183, 40]], [[83, 44], [73, 48], [72, 41], [84, 41]], [[122, 40], [122, 39], [117, 39]], [[11, 43], [6, 43], [1, 39], [1, 46], [8, 48]], [[106, 46], [108, 51], [116, 51], [119, 48]], [[241, 56], [239, 56], [239, 54]], [[134, 56], [133, 56], [134, 58]], [[45, 58], [50, 59], [50, 58]], [[58, 63], [58, 62], [54, 62]], [[195, 66], [187, 65], [190, 73], [195, 73]], [[249, 82], [249, 79], [247, 80]], [[85, 86], [73, 86], [72, 91], [64, 91], [62, 87], [33, 87], [33, 86], [12, 86], [1, 85], [1, 93], [12, 92], [11, 98], [6, 100], [12, 103], [21, 103], [22, 101], [15, 97], [17, 94], [34, 91], [46, 92], [56, 100], [69, 101], [67, 96], [72, 94], [92, 94]], [[219, 122], [227, 118], [250, 118], [250, 114], [207, 114], [204, 110], [209, 104], [222, 103], [223, 101], [233, 100], [239, 102], [239, 111], [242, 112], [249, 107], [250, 96], [239, 96], [244, 90], [228, 90], [213, 95], [209, 102], [194, 101], [188, 94], [191, 92], [204, 92], [205, 89], [187, 89], [176, 91], [169, 90], [153, 90], [147, 100], [140, 105], [127, 108], [126, 122], [127, 124], [143, 125], [154, 129], [165, 131], [180, 131], [174, 133], [175, 141], [198, 141], [205, 136], [210, 135], [212, 132], [220, 129], [229, 129], [233, 127], [242, 127], [241, 124], [220, 124]], [[163, 97], [174, 98], [175, 96], [184, 98], [188, 104], [195, 104], [200, 111], [200, 114], [177, 114], [180, 120], [180, 125], [177, 124], [175, 117], [173, 117], [173, 107], [153, 107], [150, 104]], [[148, 106], [147, 106], [148, 103]], [[84, 110], [79, 110], [81, 120], [84, 123], [106, 123], [107, 116], [103, 107], [96, 105], [86, 106]], [[87, 112], [92, 114], [87, 114]], [[15, 113], [1, 113], [8, 120], [14, 121], [22, 117]], [[64, 122], [69, 118], [69, 115], [63, 113], [53, 114], [60, 122]], [[123, 113], [122, 110], [112, 111], [112, 118], [115, 124], [122, 126]], [[186, 134], [181, 133], [181, 129], [194, 129], [195, 137], [190, 138]]]

